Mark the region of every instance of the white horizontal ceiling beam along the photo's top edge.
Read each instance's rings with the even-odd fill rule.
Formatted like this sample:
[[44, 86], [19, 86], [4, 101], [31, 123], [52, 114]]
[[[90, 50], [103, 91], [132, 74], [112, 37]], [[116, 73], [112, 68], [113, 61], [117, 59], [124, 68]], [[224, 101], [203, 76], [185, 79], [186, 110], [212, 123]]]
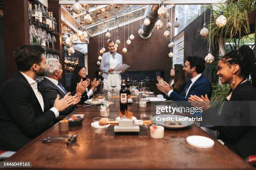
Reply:
[[[60, 0], [60, 5], [73, 5], [75, 0]], [[90, 5], [156, 5], [159, 0], [79, 0], [80, 4]], [[164, 0], [164, 4], [189, 5], [189, 4], [216, 4], [221, 0]]]

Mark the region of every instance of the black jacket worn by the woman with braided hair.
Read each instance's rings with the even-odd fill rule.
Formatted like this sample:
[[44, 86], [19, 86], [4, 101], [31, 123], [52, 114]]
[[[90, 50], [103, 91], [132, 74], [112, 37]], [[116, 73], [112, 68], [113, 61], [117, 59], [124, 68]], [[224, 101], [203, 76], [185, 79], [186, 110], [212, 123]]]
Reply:
[[210, 107], [203, 113], [203, 121], [218, 125], [215, 126], [218, 138], [242, 158], [256, 155], [256, 127], [249, 125], [252, 122], [255, 125], [256, 121], [256, 106], [252, 101], [256, 101], [256, 88], [247, 81], [233, 90], [220, 115], [218, 107]]

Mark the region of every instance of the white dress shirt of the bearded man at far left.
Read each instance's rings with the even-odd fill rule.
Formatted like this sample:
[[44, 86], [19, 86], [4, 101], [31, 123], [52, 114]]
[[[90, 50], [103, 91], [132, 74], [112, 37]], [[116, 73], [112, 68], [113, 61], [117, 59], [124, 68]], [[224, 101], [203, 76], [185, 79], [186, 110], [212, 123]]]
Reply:
[[[28, 75], [24, 74], [23, 72], [20, 72], [20, 73], [27, 79], [28, 83], [31, 85], [31, 87], [36, 95], [36, 98], [37, 98], [38, 102], [40, 103], [40, 106], [44, 112], [44, 99], [43, 99], [41, 92], [38, 91], [38, 89], [37, 89], [36, 81], [33, 80]], [[50, 110], [54, 112], [56, 118], [59, 117], [59, 111], [55, 107], [51, 107]]]

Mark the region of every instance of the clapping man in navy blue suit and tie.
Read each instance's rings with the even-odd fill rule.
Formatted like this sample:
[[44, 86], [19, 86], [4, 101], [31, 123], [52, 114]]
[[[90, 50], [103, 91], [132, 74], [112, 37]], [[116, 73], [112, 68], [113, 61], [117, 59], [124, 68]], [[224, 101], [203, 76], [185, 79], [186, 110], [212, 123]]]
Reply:
[[200, 97], [207, 94], [210, 98], [212, 95], [211, 82], [202, 75], [202, 72], [205, 70], [205, 60], [202, 57], [189, 56], [186, 58], [183, 70], [190, 80], [180, 95], [167, 82], [159, 82], [156, 84], [157, 88], [168, 95], [169, 100], [174, 101], [188, 101], [190, 95]]

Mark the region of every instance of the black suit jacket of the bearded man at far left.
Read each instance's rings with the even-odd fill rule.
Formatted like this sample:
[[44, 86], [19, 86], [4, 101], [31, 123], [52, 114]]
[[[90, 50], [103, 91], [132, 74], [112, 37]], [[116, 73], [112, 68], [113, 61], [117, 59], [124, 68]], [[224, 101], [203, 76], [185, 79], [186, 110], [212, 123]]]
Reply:
[[20, 72], [15, 73], [2, 85], [0, 150], [17, 151], [49, 128], [56, 117], [54, 112], [49, 110], [44, 95], [43, 99], [44, 112], [31, 85]]

